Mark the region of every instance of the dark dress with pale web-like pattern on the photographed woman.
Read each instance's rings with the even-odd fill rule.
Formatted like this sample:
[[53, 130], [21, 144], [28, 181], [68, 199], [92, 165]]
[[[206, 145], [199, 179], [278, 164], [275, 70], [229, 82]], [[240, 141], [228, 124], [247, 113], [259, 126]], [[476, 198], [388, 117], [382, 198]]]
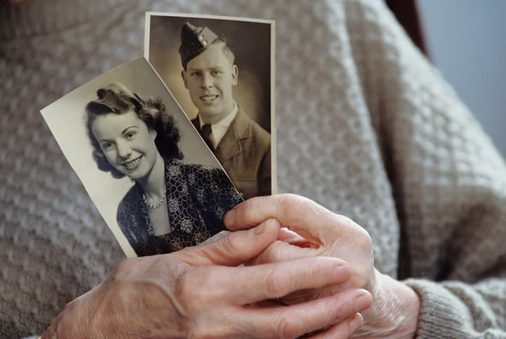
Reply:
[[242, 201], [221, 168], [165, 161], [167, 210], [172, 232], [155, 236], [137, 183], [119, 203], [117, 222], [138, 256], [179, 251], [226, 230], [223, 216]]

